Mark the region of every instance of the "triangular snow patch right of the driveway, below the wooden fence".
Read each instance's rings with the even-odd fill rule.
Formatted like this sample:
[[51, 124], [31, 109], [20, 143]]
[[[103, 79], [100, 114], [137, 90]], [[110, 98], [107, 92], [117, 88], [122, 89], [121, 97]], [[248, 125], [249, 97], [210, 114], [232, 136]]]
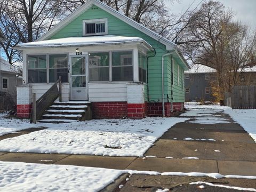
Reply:
[[256, 109], [226, 109], [225, 113], [240, 124], [256, 142]]

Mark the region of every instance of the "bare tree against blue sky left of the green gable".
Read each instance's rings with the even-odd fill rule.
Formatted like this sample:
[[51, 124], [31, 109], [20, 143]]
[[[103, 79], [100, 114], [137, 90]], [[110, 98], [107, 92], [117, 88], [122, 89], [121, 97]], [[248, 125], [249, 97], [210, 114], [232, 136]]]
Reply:
[[11, 64], [19, 59], [12, 47], [35, 41], [60, 20], [63, 11], [54, 0], [2, 0], [0, 9], [0, 27], [6, 36], [1, 45]]

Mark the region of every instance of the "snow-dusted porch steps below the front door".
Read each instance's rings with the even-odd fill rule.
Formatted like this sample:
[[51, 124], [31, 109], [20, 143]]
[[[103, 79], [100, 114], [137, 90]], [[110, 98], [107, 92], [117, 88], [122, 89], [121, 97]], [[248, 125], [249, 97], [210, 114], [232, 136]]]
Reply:
[[41, 123], [70, 123], [92, 119], [92, 106], [88, 101], [54, 102], [45, 111]]

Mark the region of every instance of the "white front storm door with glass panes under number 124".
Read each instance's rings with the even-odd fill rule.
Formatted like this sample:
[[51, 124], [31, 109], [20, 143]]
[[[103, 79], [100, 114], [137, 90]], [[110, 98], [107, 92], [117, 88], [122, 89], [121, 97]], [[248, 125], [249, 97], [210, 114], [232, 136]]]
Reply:
[[71, 56], [70, 99], [88, 100], [86, 55]]

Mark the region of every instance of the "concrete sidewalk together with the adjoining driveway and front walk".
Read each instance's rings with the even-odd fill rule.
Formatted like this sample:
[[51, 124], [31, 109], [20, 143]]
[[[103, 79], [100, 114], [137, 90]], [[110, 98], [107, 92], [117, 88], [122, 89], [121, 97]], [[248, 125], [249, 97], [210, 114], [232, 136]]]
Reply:
[[[223, 114], [221, 118], [228, 119], [229, 123], [185, 122], [174, 125], [145, 154], [145, 156], [150, 155], [157, 158], [2, 152], [0, 161], [92, 166], [119, 170], [205, 172], [256, 176], [256, 144], [244, 129], [234, 123], [229, 116]], [[4, 135], [0, 137], [0, 140], [38, 130], [23, 130], [20, 133]], [[183, 140], [185, 138], [194, 140]], [[214, 139], [215, 141], [196, 139]], [[186, 157], [199, 159], [182, 159]]]

